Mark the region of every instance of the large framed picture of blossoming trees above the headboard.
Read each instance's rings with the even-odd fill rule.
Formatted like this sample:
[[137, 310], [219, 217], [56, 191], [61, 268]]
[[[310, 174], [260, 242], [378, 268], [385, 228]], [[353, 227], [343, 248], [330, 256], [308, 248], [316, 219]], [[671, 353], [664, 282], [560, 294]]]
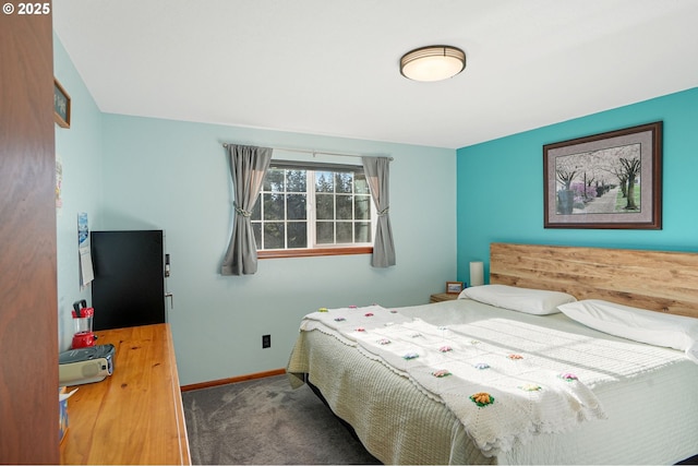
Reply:
[[544, 228], [662, 229], [662, 121], [543, 145]]

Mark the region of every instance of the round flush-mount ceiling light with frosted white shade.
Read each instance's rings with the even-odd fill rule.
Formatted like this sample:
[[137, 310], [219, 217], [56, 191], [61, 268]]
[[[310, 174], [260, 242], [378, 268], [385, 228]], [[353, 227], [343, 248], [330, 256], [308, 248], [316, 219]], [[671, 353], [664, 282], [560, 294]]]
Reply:
[[466, 53], [456, 47], [429, 46], [400, 58], [400, 73], [414, 81], [442, 81], [466, 69]]

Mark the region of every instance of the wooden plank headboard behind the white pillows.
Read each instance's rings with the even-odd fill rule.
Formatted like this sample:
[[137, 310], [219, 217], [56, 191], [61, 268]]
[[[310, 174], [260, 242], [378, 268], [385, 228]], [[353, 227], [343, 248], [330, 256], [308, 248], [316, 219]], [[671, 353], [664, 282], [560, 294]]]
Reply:
[[490, 283], [698, 318], [698, 253], [490, 244]]

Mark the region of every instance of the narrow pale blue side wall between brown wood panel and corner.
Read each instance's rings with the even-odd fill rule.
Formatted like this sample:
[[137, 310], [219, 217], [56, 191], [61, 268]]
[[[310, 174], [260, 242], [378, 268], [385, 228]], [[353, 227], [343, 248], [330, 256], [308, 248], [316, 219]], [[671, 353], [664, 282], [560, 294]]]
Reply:
[[71, 97], [70, 129], [56, 126], [56, 154], [62, 162], [62, 207], [57, 214], [59, 350], [73, 336], [72, 303], [89, 302], [91, 288], [81, 289], [77, 262], [77, 213], [86, 212], [91, 228], [101, 217], [101, 112], [53, 35], [53, 75]]

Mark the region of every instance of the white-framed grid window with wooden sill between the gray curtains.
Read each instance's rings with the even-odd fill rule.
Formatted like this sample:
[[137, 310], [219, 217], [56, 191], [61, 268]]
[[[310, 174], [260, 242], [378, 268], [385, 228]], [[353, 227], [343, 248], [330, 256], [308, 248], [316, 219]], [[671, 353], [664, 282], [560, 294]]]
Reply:
[[252, 229], [260, 258], [370, 253], [375, 207], [360, 166], [272, 160]]

